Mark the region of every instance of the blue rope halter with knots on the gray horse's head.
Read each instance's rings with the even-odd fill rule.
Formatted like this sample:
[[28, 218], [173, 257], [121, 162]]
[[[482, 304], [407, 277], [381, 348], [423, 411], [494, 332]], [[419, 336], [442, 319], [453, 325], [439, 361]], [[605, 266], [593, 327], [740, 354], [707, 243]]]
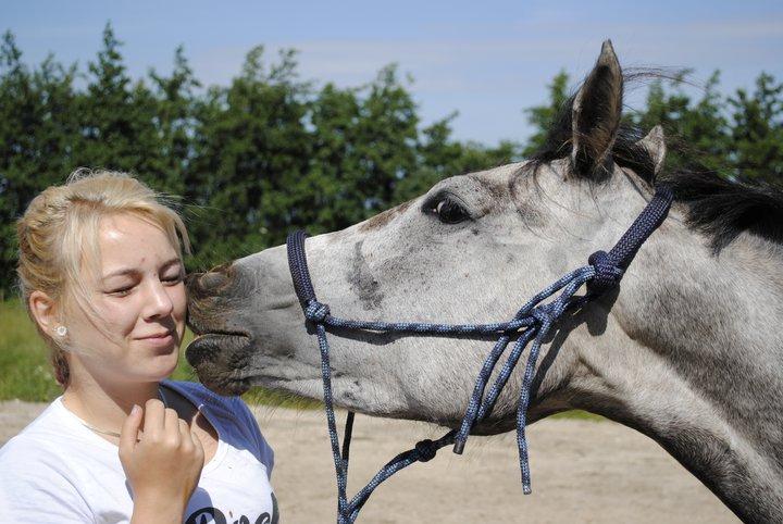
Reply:
[[[304, 253], [304, 239], [307, 235], [301, 230], [288, 235], [288, 266], [294, 280], [294, 288], [304, 311], [306, 323], [309, 322], [315, 326], [319, 349], [321, 351], [324, 404], [326, 408], [330, 440], [332, 441], [332, 454], [334, 457], [335, 472], [337, 475], [337, 523], [350, 524], [355, 522], [359, 515], [359, 511], [370, 498], [373, 490], [399, 470], [417, 461], [426, 462], [435, 457], [438, 449], [451, 444], [453, 444], [455, 453], [461, 454], [472, 427], [476, 422], [492, 413], [495, 402], [517, 366], [517, 362], [522, 352], [527, 344], [533, 340], [527, 355], [527, 364], [524, 370], [517, 409], [517, 444], [519, 447], [520, 470], [522, 472], [522, 490], [524, 494], [530, 494], [531, 475], [527, 461], [527, 441], [525, 439], [525, 417], [530, 403], [531, 384], [533, 382], [533, 374], [542, 342], [549, 333], [552, 324], [566, 310], [584, 305], [620, 282], [638, 249], [666, 219], [671, 202], [671, 189], [668, 187], [658, 188], [647, 207], [608, 253], [605, 251], [596, 251], [589, 257], [588, 265], [574, 270], [562, 276], [559, 280], [550, 284], [546, 289], [527, 301], [511, 321], [497, 324], [450, 325], [421, 322], [387, 323], [351, 321], [332, 316], [328, 305], [319, 302], [315, 298], [315, 291], [313, 290], [307, 265], [307, 255]], [[583, 284], [587, 285], [586, 294], [574, 297], [574, 294]], [[546, 299], [558, 292], [559, 295], [557, 295], [555, 299], [544, 303]], [[436, 335], [492, 334], [498, 336], [495, 347], [487, 355], [478, 373], [473, 395], [468, 403], [468, 410], [465, 411], [459, 429], [451, 429], [437, 440], [425, 439], [417, 442], [413, 449], [398, 454], [384, 465], [370, 483], [350, 501], [346, 495], [346, 486], [348, 483], [348, 456], [353, 429], [353, 413], [348, 412], [345, 440], [340, 453], [332, 399], [330, 347], [326, 340], [327, 328], [382, 333], [431, 333]], [[511, 352], [507, 357], [489, 391], [484, 395], [498, 360], [514, 335], [519, 335], [519, 338], [514, 342]]]

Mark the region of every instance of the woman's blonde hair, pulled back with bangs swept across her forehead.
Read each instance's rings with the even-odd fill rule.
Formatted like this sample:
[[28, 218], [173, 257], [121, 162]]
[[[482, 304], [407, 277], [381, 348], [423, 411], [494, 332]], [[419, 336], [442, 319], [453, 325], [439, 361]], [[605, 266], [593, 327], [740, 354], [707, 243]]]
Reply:
[[[40, 290], [62, 307], [76, 302], [89, 308], [80, 282], [83, 265], [97, 275], [100, 261], [98, 233], [101, 219], [130, 214], [159, 226], [182, 258], [190, 252], [185, 223], [171, 199], [153, 191], [126, 173], [78, 170], [62, 186], [38, 195], [16, 223], [20, 257], [16, 273], [27, 313], [51, 350], [54, 377], [65, 387], [70, 371], [67, 348], [46, 333], [30, 310], [29, 297]], [[181, 241], [182, 239], [182, 241]]]

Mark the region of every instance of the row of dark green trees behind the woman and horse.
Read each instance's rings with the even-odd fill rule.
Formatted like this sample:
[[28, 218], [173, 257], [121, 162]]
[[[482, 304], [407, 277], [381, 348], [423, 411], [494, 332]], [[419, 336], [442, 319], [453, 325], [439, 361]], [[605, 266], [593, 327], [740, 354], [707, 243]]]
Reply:
[[[134, 80], [107, 25], [80, 72], [52, 57], [30, 67], [11, 33], [0, 43], [0, 292], [14, 283], [14, 222], [40, 190], [79, 166], [136, 174], [176, 196], [204, 269], [279, 244], [288, 230], [346, 227], [451, 175], [524, 158], [546, 138], [569, 97], [559, 73], [548, 100], [525, 110], [526, 144], [488, 147], [452, 138], [455, 114], [422, 126], [410, 80], [395, 65], [357, 87], [299, 77], [296, 52], [251, 49], [227, 86], [203, 88], [185, 52], [163, 75]], [[76, 86], [84, 87], [76, 87]], [[627, 117], [663, 124], [683, 147], [670, 167], [697, 159], [736, 179], [783, 176], [783, 84], [762, 73], [724, 96], [716, 73], [693, 99], [654, 82]]]

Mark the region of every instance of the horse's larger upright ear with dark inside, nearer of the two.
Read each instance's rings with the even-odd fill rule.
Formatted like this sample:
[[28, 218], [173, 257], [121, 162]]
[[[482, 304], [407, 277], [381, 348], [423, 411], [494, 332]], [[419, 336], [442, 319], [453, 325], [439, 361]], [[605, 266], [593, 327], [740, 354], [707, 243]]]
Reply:
[[611, 148], [622, 114], [623, 79], [611, 41], [606, 40], [595, 67], [573, 102], [571, 162], [581, 175], [602, 177], [611, 171]]

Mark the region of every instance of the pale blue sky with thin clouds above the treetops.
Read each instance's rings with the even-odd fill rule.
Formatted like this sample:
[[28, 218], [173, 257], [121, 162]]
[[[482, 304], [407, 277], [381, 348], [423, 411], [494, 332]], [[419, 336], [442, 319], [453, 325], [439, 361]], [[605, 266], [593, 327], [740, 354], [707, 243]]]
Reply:
[[[134, 76], [171, 70], [184, 45], [196, 76], [227, 84], [245, 53], [263, 45], [299, 50], [302, 78], [358, 86], [396, 62], [424, 123], [459, 111], [455, 136], [487, 145], [523, 140], [524, 108], [546, 100], [564, 68], [574, 80], [611, 38], [623, 66], [693, 67], [695, 82], [721, 70], [721, 89], [753, 88], [761, 71], [783, 79], [783, 2], [670, 1], [5, 1], [29, 63], [53, 52], [82, 66], [111, 21]], [[644, 91], [626, 103], [638, 105]], [[698, 96], [698, 92], [695, 93]]]

